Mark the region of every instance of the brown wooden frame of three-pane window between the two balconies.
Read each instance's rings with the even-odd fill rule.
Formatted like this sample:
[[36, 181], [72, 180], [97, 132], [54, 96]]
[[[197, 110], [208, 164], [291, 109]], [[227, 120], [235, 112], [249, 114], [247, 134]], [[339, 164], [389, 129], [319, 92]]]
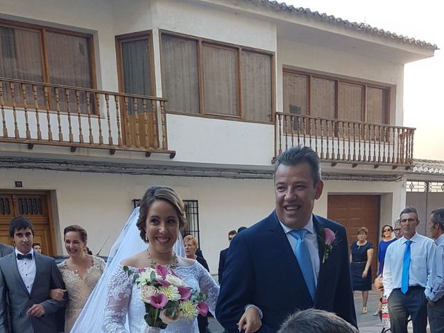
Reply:
[[[197, 37], [193, 35], [186, 35], [182, 33], [177, 33], [174, 31], [167, 31], [164, 29], [159, 30], [159, 48], [160, 48], [160, 73], [162, 77], [162, 92], [164, 91], [164, 74], [162, 72], [162, 36], [169, 35], [171, 37], [183, 38], [185, 40], [193, 40], [197, 44], [197, 62], [198, 62], [198, 92], [199, 92], [199, 112], [198, 113], [187, 113], [187, 112], [178, 112], [178, 111], [169, 111], [166, 110], [169, 114], [180, 114], [186, 115], [190, 117], [204, 117], [210, 119], [223, 119], [223, 120], [232, 120], [232, 121], [243, 121], [247, 123], [265, 123], [265, 124], [275, 124], [275, 112], [276, 112], [276, 78], [275, 78], [275, 52], [274, 51], [266, 51], [263, 49], [257, 49], [248, 46], [241, 46], [237, 44], [231, 44], [227, 42], [219, 42], [216, 40], [210, 40], [204, 37]], [[221, 49], [229, 49], [236, 51], [236, 76], [237, 76], [237, 115], [225, 115], [225, 114], [216, 114], [205, 112], [205, 101], [204, 101], [204, 83], [203, 83], [203, 44], [210, 45], [212, 47], [219, 47]], [[241, 53], [242, 51], [249, 51], [253, 53], [259, 53], [262, 55], [270, 56], [270, 71], [271, 71], [271, 121], [260, 121], [260, 120], [248, 120], [244, 118], [244, 112], [242, 110], [242, 77], [241, 77]]]

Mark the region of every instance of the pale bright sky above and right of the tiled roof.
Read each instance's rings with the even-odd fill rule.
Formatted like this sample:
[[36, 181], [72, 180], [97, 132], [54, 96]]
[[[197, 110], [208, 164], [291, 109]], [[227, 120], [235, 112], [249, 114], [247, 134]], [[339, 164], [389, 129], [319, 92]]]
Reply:
[[[279, 0], [282, 2], [282, 0]], [[364, 22], [444, 49], [439, 0], [285, 0], [287, 5]], [[404, 67], [404, 123], [416, 128], [413, 157], [444, 160], [444, 51]]]

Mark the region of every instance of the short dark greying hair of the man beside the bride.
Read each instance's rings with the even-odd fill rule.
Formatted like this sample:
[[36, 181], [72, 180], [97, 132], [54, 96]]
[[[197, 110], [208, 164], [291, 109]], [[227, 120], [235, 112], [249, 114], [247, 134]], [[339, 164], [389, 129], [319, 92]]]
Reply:
[[316, 151], [310, 147], [296, 146], [288, 148], [287, 151], [282, 152], [276, 159], [275, 173], [281, 164], [287, 167], [294, 167], [304, 162], [310, 165], [313, 185], [316, 185], [316, 182], [321, 180], [321, 162]]

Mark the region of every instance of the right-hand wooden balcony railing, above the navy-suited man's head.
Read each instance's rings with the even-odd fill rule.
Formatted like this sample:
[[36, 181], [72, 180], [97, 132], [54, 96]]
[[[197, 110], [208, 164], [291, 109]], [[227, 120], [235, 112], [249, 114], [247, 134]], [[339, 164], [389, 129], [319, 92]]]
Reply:
[[310, 146], [324, 162], [413, 166], [414, 128], [276, 112], [279, 155], [291, 146]]

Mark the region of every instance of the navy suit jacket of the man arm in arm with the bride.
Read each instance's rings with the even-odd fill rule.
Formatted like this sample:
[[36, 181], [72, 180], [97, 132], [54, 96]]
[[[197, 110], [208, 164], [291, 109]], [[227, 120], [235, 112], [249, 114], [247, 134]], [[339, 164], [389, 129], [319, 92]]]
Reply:
[[[264, 315], [258, 332], [276, 332], [289, 314], [311, 307], [334, 312], [357, 327], [345, 228], [316, 215], [313, 223], [321, 259], [314, 301], [275, 212], [234, 237], [216, 305], [225, 330], [239, 332], [236, 324], [248, 304]], [[324, 228], [333, 230], [337, 241], [325, 263]]]

